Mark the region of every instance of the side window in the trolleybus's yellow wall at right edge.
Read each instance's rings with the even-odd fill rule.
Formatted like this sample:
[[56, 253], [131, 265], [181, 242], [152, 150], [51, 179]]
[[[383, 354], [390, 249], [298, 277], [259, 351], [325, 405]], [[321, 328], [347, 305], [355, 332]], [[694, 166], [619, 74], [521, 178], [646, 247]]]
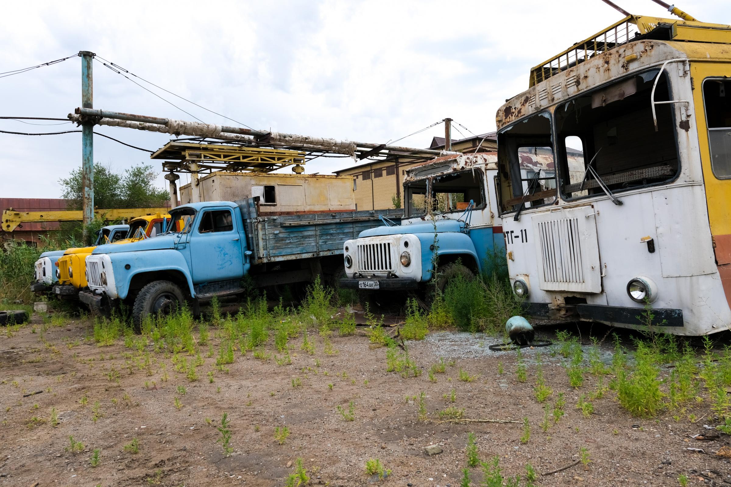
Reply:
[[711, 170], [719, 179], [731, 178], [731, 82], [703, 82], [705, 120], [711, 147]]

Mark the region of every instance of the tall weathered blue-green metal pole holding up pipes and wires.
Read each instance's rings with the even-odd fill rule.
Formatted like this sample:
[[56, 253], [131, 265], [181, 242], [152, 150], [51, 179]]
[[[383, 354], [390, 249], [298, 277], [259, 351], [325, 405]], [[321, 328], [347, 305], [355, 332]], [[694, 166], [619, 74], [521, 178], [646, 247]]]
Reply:
[[[81, 56], [81, 106], [91, 109], [94, 108], [94, 79], [92, 75], [94, 53], [83, 50], [80, 51], [79, 55]], [[94, 122], [83, 122], [81, 130], [81, 180], [83, 185], [81, 210], [84, 224], [83, 235], [86, 237], [87, 226], [94, 220]]]

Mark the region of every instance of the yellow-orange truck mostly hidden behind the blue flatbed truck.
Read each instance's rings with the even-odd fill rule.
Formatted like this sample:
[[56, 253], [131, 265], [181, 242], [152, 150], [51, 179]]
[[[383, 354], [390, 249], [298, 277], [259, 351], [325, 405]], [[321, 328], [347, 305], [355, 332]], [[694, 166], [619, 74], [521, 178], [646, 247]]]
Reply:
[[[163, 222], [166, 218], [170, 222], [170, 215], [167, 213], [153, 213], [134, 218], [129, 222], [129, 232], [125, 239], [106, 243], [124, 244], [155, 237], [162, 232]], [[53, 285], [54, 295], [61, 299], [75, 299], [79, 291], [87, 287], [86, 256], [91, 255], [95, 248], [96, 246], [69, 248], [63, 256], [58, 258], [56, 261], [58, 283]]]

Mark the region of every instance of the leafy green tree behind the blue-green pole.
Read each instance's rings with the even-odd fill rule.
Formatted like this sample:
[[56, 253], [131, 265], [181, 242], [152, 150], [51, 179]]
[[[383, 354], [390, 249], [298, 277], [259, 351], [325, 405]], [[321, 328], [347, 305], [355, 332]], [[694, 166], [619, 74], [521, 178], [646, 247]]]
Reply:
[[[94, 207], [145, 208], [163, 206], [170, 193], [155, 188], [157, 175], [149, 164], [139, 164], [116, 174], [109, 166], [94, 164]], [[69, 199], [69, 209], [82, 207], [83, 181], [81, 169], [74, 169], [67, 178], [61, 178], [61, 196]]]

